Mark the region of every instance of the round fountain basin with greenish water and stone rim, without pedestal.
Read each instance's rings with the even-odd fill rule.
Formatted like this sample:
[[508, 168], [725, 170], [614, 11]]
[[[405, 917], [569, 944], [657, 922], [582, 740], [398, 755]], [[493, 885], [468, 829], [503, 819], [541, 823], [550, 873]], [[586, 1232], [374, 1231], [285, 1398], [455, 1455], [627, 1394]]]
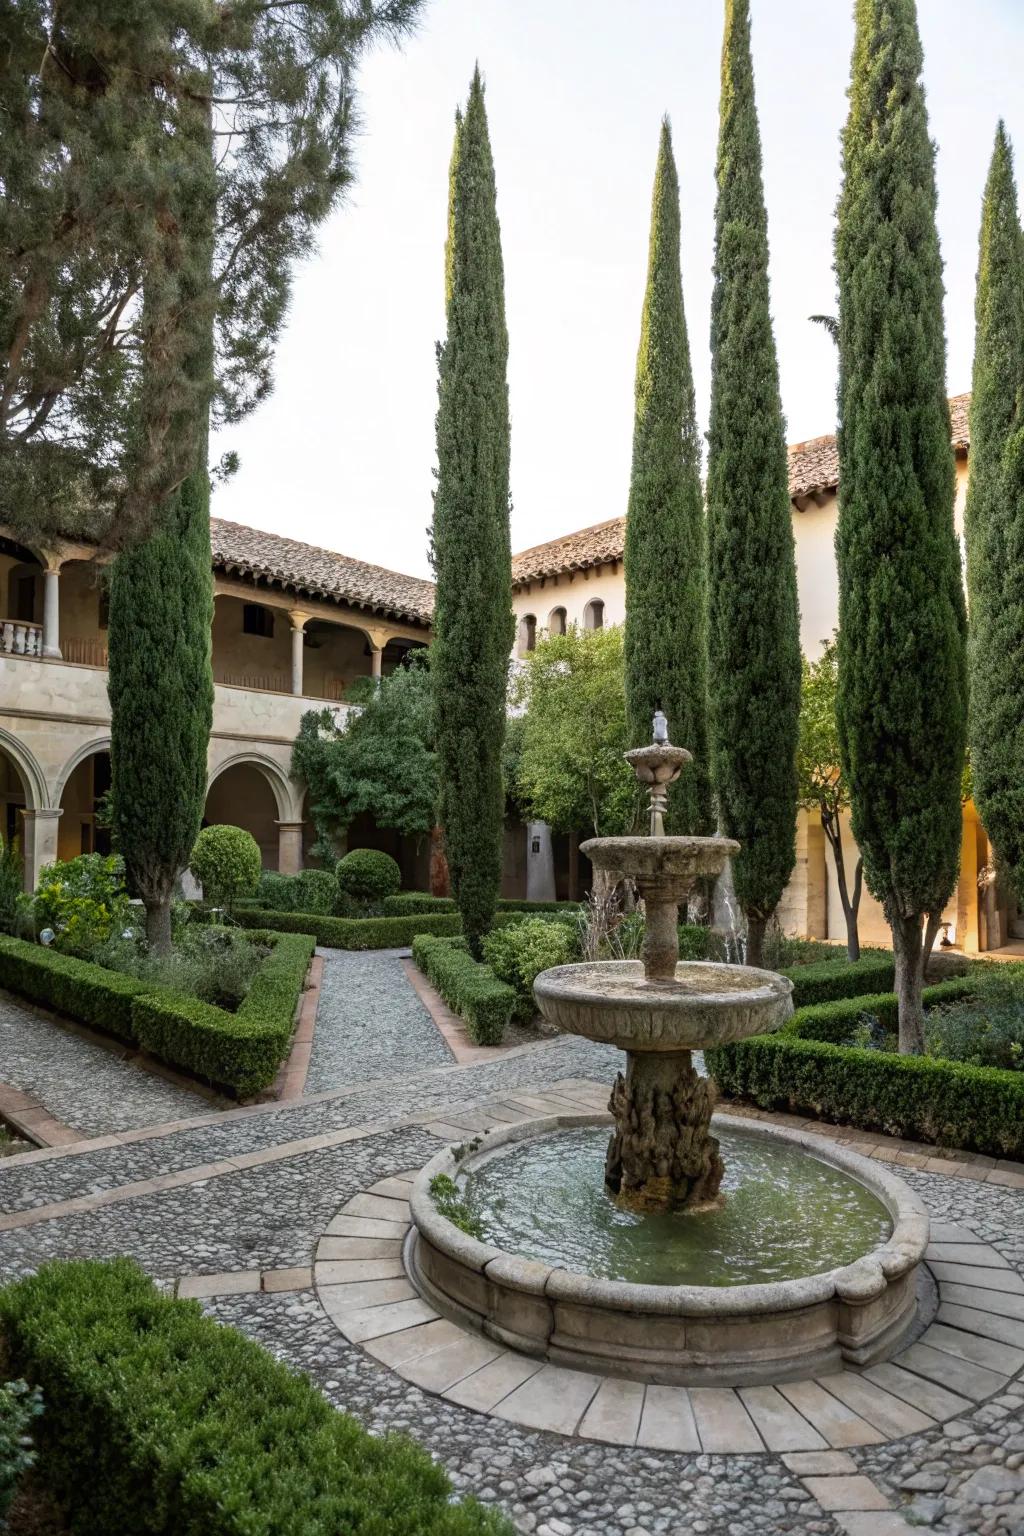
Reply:
[[[723, 1209], [639, 1215], [603, 1192], [609, 1124], [508, 1126], [422, 1169], [405, 1264], [438, 1310], [559, 1364], [683, 1385], [867, 1364], [913, 1330], [927, 1215], [886, 1167], [717, 1115]], [[438, 1209], [438, 1175], [471, 1232]]]

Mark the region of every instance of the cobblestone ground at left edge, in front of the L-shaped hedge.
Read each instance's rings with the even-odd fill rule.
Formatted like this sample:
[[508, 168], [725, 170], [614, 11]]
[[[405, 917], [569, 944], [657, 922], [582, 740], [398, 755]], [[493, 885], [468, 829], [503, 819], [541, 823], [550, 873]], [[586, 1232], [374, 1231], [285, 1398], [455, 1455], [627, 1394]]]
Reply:
[[100, 1137], [161, 1120], [201, 1115], [210, 1103], [114, 1051], [84, 1040], [0, 992], [0, 1078], [46, 1106], [55, 1120]]

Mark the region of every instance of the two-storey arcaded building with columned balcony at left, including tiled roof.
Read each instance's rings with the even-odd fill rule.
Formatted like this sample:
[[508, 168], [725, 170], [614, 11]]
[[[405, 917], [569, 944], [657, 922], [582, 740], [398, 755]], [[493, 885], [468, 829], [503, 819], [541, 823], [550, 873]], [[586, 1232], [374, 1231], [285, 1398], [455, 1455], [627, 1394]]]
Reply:
[[[433, 584], [241, 524], [212, 522], [213, 733], [207, 822], [293, 872], [313, 839], [289, 771], [304, 711], [344, 713], [348, 685], [427, 644]], [[28, 547], [0, 530], [0, 829], [18, 837], [26, 885], [52, 859], [103, 849], [111, 782], [106, 584], [89, 545]], [[375, 828], [359, 845], [415, 851]], [[415, 880], [418, 869], [408, 868]]]

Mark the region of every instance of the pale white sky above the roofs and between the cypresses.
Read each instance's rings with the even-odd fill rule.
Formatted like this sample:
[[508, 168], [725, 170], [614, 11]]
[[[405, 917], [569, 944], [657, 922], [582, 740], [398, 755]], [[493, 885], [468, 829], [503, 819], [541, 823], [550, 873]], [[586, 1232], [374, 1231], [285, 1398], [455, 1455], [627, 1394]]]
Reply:
[[[453, 115], [487, 80], [510, 330], [513, 548], [625, 511], [660, 117], [672, 120], [702, 430], [720, 0], [427, 0], [361, 74], [358, 183], [296, 273], [270, 401], [223, 432], [213, 511], [430, 574]], [[970, 386], [981, 190], [999, 115], [1024, 163], [1024, 5], [918, 0], [938, 144], [950, 393]], [[752, 0], [772, 313], [789, 441], [832, 430], [832, 224], [852, 0]]]

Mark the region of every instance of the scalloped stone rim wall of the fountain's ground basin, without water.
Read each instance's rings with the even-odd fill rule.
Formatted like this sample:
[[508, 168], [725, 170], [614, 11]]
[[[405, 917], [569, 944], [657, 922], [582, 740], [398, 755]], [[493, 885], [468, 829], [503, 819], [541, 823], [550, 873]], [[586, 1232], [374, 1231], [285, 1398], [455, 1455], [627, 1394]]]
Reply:
[[[502, 1149], [557, 1130], [608, 1126], [559, 1115], [490, 1132], [468, 1157], [447, 1147], [419, 1174], [405, 1263], [447, 1316], [527, 1355], [579, 1370], [680, 1385], [745, 1385], [881, 1359], [913, 1332], [927, 1213], [887, 1169], [804, 1132], [717, 1115], [715, 1129], [801, 1147], [852, 1177], [887, 1210], [892, 1232], [837, 1267], [766, 1284], [634, 1284], [597, 1278], [479, 1241], [442, 1217], [431, 1180], [459, 1178]], [[700, 1215], [679, 1220], [700, 1221]]]

